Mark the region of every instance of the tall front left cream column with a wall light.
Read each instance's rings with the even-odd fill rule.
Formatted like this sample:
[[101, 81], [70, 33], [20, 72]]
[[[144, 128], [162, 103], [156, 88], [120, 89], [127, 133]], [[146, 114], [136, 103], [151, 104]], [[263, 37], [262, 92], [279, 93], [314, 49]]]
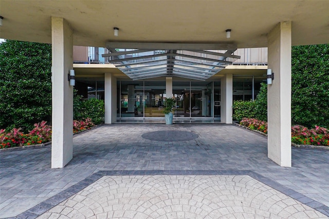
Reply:
[[73, 36], [68, 23], [51, 17], [52, 137], [51, 168], [63, 168], [73, 156], [73, 87], [67, 74], [73, 69]]

